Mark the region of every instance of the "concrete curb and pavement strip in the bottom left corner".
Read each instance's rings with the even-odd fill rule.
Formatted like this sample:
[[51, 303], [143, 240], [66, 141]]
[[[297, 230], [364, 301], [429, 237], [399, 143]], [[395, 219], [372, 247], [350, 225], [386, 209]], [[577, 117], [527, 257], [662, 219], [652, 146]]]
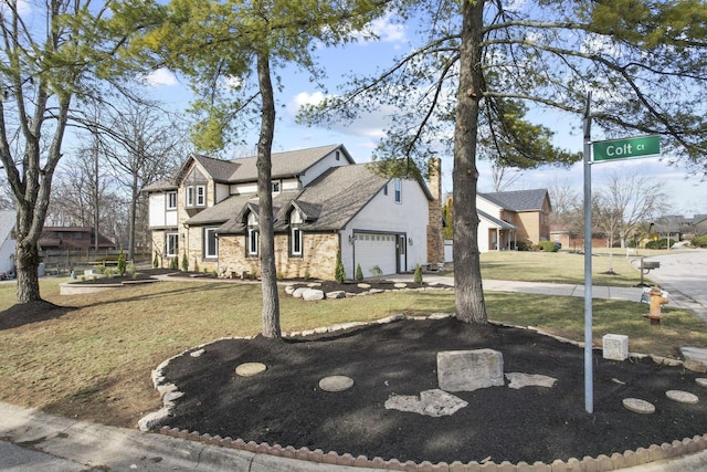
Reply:
[[370, 471], [88, 423], [2, 402], [0, 418], [2, 471]]

